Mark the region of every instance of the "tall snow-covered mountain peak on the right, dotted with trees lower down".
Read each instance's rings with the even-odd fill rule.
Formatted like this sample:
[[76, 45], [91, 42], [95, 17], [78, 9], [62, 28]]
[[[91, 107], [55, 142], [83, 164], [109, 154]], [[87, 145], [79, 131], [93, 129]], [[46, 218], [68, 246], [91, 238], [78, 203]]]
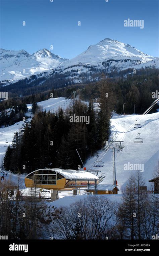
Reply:
[[[87, 65], [87, 66], [86, 66]], [[144, 52], [121, 43], [117, 40], [105, 38], [95, 45], [91, 45], [88, 49], [73, 59], [63, 63], [60, 68], [62, 72], [76, 71], [74, 74], [77, 79], [81, 73], [92, 72], [91, 68], [96, 70], [118, 68], [120, 70], [152, 66], [159, 67], [159, 58], [145, 54]], [[94, 72], [94, 70], [93, 70]]]

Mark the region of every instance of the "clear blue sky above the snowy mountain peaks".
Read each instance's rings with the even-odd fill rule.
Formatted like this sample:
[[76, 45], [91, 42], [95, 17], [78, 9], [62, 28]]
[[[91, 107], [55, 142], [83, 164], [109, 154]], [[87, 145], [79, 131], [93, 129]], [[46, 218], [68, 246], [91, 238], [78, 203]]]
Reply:
[[[158, 56], [158, 0], [0, 0], [0, 48], [73, 58], [104, 38]], [[124, 19], [144, 19], [144, 29]], [[22, 26], [22, 22], [26, 26]], [[81, 21], [81, 26], [78, 26]]]

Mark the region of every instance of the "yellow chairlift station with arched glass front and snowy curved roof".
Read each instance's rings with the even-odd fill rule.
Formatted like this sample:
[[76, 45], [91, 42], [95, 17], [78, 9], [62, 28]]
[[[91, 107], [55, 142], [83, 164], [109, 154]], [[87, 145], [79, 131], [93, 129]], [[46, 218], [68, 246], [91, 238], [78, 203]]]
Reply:
[[99, 177], [82, 170], [45, 168], [31, 172], [25, 177], [26, 187], [41, 187], [52, 190], [52, 200], [57, 199], [58, 191], [67, 191], [90, 185], [97, 186]]

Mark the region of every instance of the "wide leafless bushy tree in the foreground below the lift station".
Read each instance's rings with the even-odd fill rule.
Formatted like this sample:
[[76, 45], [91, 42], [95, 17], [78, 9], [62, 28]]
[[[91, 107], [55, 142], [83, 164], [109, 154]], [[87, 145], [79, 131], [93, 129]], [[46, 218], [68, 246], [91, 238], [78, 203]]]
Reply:
[[113, 204], [105, 196], [88, 196], [60, 208], [49, 234], [56, 239], [110, 239], [112, 216]]

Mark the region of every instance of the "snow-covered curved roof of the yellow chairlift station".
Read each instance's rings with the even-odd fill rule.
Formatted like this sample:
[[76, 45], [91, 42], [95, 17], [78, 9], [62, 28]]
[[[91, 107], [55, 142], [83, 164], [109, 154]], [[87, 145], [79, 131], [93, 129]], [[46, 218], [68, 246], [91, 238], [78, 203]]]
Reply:
[[59, 174], [63, 175], [66, 179], [89, 179], [89, 180], [99, 180], [99, 178], [86, 171], [81, 170], [69, 170], [69, 169], [56, 169], [56, 168], [46, 168], [48, 170], [54, 170], [55, 172], [58, 172]]

